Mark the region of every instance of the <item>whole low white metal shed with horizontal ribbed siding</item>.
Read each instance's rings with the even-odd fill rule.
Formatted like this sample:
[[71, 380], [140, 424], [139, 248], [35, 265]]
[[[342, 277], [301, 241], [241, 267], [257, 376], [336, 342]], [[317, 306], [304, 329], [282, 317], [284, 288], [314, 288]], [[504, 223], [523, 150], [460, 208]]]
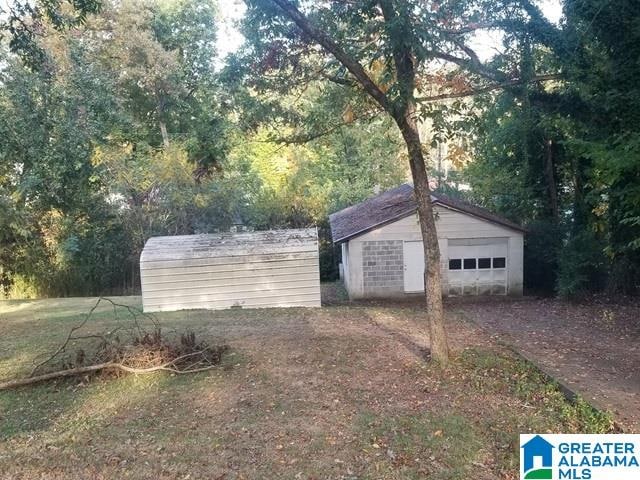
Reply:
[[150, 238], [140, 257], [145, 312], [319, 307], [316, 229]]

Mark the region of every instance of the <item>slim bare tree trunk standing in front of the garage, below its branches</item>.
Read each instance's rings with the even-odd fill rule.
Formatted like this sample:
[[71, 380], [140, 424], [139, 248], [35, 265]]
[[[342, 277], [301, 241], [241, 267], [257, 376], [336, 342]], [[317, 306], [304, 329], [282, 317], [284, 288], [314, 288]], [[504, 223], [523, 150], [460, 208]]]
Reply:
[[431, 203], [431, 189], [425, 165], [420, 133], [415, 119], [415, 107], [409, 103], [404, 114], [396, 118], [409, 153], [409, 165], [413, 177], [413, 189], [418, 204], [418, 218], [424, 248], [424, 291], [427, 300], [429, 319], [429, 342], [431, 358], [446, 364], [449, 361], [449, 345], [444, 328], [444, 309], [442, 306], [442, 280], [440, 275], [440, 247], [436, 222]]

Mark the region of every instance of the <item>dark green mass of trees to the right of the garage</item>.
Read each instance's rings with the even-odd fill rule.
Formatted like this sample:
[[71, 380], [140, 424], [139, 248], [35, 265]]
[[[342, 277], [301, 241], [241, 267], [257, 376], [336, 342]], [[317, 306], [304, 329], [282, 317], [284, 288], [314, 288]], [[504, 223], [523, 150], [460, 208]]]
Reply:
[[476, 101], [482, 113], [467, 179], [476, 200], [530, 227], [529, 287], [576, 296], [640, 286], [633, 4], [567, 0], [561, 27], [540, 19], [526, 33], [513, 29], [505, 43], [521, 52], [522, 74], [559, 70], [563, 79]]

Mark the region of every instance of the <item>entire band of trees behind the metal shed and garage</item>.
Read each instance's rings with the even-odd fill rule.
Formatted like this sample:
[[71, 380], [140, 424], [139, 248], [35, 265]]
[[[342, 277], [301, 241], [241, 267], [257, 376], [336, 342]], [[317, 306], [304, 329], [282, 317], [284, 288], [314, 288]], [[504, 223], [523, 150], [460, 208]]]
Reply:
[[429, 147], [461, 138], [472, 160], [438, 187], [527, 227], [529, 289], [636, 291], [633, 1], [566, 0], [556, 25], [527, 0], [252, 0], [224, 61], [213, 0], [85, 3], [5, 21], [4, 295], [135, 292], [149, 236], [234, 225], [320, 225], [334, 278], [328, 213], [411, 173], [425, 197]]

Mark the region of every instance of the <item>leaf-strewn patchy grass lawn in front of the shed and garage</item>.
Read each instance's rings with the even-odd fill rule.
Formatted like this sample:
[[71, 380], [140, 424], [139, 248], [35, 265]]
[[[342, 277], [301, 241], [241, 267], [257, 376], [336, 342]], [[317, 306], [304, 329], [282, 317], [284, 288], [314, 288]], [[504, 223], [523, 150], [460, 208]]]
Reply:
[[[94, 303], [0, 302], [0, 380], [28, 373]], [[104, 331], [125, 318], [125, 309], [105, 306], [87, 327]], [[419, 307], [157, 318], [224, 339], [231, 352], [195, 375], [0, 392], [1, 478], [515, 479], [519, 433], [611, 427], [454, 315], [447, 369], [424, 360]]]

